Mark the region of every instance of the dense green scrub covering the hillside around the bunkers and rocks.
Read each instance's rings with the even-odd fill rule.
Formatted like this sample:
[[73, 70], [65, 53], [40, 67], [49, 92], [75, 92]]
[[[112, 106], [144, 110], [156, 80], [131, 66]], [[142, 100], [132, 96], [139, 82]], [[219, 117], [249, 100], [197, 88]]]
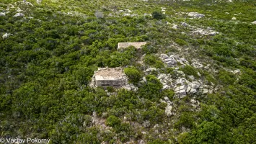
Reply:
[[[14, 2], [1, 1], [0, 12]], [[12, 34], [0, 37], [0, 137], [50, 138], [50, 143], [256, 142], [256, 25], [249, 24], [256, 20], [256, 6], [252, 1], [16, 4], [26, 18], [13, 17], [17, 9], [0, 17], [0, 34]], [[166, 14], [161, 6], [167, 8]], [[118, 13], [123, 9], [137, 15], [123, 16]], [[175, 12], [202, 12], [206, 17], [189, 19]], [[231, 20], [233, 14], [239, 21]], [[184, 35], [189, 32], [186, 27], [174, 30], [167, 24], [180, 22], [213, 27], [221, 34]], [[140, 41], [148, 41], [141, 51], [117, 50], [118, 42]], [[139, 83], [149, 66], [176, 76], [156, 56], [179, 52], [170, 46], [175, 44], [188, 50], [189, 56], [211, 63], [218, 72], [191, 66], [181, 71], [195, 78], [200, 72], [206, 81], [219, 85], [219, 91], [178, 99], [172, 90], [162, 90], [154, 72], [145, 76], [146, 83]], [[136, 63], [142, 55], [144, 64]], [[118, 66], [125, 67], [138, 91], [119, 89], [109, 95], [105, 89], [88, 86], [98, 67]], [[241, 75], [229, 72], [237, 68]], [[166, 104], [159, 101], [164, 96], [177, 104], [177, 115], [164, 114]], [[199, 111], [186, 105], [192, 97], [200, 102]], [[106, 125], [103, 130], [93, 124], [94, 113]]]

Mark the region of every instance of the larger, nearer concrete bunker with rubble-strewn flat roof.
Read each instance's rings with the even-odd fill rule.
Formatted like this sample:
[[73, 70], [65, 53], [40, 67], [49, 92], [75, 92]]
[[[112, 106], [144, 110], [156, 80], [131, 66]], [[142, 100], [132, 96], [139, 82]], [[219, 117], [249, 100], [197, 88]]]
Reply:
[[91, 86], [113, 86], [120, 88], [127, 83], [128, 78], [123, 73], [123, 68], [98, 68], [98, 71], [94, 71]]

